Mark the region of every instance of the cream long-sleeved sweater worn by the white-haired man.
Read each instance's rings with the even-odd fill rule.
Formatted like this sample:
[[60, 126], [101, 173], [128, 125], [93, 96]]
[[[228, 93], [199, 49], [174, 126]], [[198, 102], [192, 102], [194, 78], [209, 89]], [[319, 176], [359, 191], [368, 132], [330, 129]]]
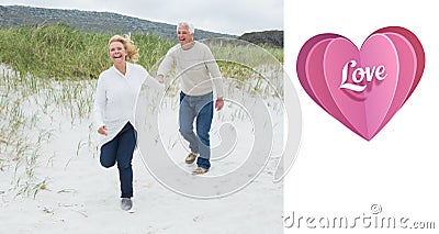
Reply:
[[215, 85], [216, 97], [223, 97], [223, 80], [218, 65], [211, 49], [201, 42], [194, 42], [189, 49], [176, 45], [158, 67], [157, 75], [167, 75], [172, 66], [177, 68], [177, 79], [181, 90], [189, 96], [202, 96], [213, 91]]

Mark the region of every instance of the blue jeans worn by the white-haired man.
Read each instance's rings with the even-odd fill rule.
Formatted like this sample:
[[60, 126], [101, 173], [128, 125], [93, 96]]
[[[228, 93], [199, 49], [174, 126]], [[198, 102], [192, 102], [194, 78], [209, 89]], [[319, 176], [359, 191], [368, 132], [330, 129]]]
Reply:
[[[193, 121], [196, 116], [196, 135], [193, 132]], [[203, 96], [187, 96], [180, 92], [179, 123], [180, 133], [189, 142], [191, 152], [200, 154], [196, 165], [209, 169], [211, 163], [211, 131], [213, 119], [213, 93]]]

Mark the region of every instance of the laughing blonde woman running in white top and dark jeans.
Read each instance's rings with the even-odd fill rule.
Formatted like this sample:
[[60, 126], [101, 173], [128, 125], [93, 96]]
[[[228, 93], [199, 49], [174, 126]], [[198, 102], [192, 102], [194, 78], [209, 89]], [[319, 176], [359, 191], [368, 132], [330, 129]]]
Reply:
[[133, 64], [138, 57], [138, 48], [130, 36], [114, 35], [108, 47], [113, 66], [99, 76], [93, 115], [101, 136], [100, 163], [105, 168], [117, 164], [121, 208], [127, 211], [133, 207], [135, 105], [143, 82], [151, 77], [144, 67]]

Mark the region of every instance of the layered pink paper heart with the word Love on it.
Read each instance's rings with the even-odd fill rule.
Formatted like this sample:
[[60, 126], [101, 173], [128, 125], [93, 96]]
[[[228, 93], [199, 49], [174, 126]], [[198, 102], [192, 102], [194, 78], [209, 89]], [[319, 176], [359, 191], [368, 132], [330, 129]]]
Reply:
[[373, 32], [360, 48], [338, 34], [315, 35], [302, 46], [296, 63], [306, 93], [367, 141], [407, 101], [424, 67], [423, 45], [401, 26]]

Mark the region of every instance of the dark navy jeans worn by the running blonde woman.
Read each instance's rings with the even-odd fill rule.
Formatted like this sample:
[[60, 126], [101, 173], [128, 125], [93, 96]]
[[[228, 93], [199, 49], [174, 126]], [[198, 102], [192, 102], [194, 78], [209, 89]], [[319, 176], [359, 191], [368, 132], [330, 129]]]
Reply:
[[133, 197], [132, 159], [136, 147], [136, 131], [128, 122], [117, 135], [101, 147], [101, 165], [105, 168], [117, 163], [121, 198]]

